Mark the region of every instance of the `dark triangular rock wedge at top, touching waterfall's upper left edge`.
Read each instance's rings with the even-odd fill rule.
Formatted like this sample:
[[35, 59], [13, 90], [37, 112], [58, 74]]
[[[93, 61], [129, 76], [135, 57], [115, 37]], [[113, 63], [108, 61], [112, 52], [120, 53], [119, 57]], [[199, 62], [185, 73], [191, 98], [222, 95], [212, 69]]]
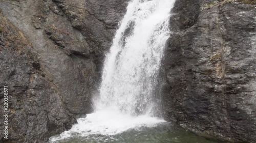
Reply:
[[101, 74], [106, 52], [109, 51], [118, 23], [126, 12], [128, 0], [121, 1], [54, 1], [66, 14], [74, 28], [90, 45], [96, 71]]

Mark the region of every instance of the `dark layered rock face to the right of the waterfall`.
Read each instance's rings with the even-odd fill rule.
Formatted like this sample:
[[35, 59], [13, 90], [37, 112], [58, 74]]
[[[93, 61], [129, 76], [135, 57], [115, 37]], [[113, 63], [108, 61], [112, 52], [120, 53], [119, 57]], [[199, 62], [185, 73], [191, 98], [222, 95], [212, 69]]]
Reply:
[[256, 142], [256, 9], [177, 1], [163, 61], [165, 118], [202, 135]]

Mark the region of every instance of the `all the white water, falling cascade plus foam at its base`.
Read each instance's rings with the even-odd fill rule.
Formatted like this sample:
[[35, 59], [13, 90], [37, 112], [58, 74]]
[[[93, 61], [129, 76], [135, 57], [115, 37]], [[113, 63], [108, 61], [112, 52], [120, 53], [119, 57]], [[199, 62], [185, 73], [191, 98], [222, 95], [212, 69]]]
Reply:
[[106, 55], [95, 112], [51, 141], [78, 135], [113, 135], [164, 120], [154, 117], [158, 70], [175, 0], [134, 0]]

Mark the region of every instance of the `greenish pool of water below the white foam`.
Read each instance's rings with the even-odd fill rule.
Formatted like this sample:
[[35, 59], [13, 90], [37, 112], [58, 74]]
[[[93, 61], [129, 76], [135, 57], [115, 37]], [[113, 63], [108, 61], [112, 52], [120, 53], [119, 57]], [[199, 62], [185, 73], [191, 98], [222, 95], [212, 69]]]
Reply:
[[[57, 136], [56, 136], [57, 137]], [[159, 123], [155, 127], [137, 127], [115, 135], [72, 133], [55, 143], [217, 143], [197, 136], [172, 123]]]

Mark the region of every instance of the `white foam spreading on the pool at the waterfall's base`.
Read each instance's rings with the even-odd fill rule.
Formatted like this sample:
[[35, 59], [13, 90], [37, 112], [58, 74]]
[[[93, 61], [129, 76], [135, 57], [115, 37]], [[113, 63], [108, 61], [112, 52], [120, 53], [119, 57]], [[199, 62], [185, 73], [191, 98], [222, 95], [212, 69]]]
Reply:
[[51, 141], [62, 140], [74, 135], [115, 135], [132, 128], [139, 129], [141, 126], [154, 127], [157, 123], [165, 121], [146, 115], [133, 117], [107, 108], [91, 113], [86, 118], [80, 118], [77, 122], [78, 124], [74, 125], [72, 129], [63, 132], [60, 136], [51, 138]]

